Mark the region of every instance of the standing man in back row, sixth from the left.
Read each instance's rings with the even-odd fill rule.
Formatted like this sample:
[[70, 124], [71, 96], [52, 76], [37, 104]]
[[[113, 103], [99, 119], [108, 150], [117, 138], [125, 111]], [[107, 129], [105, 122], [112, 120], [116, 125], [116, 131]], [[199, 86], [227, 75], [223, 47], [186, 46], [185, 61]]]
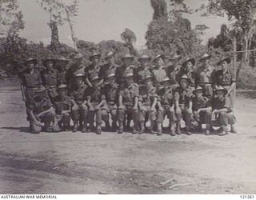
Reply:
[[115, 74], [115, 71], [119, 67], [117, 64], [114, 63], [114, 53], [112, 51], [106, 54], [105, 60], [106, 64], [103, 65], [99, 70], [98, 77], [100, 78], [100, 80], [105, 78], [106, 74], [108, 74], [110, 70]]

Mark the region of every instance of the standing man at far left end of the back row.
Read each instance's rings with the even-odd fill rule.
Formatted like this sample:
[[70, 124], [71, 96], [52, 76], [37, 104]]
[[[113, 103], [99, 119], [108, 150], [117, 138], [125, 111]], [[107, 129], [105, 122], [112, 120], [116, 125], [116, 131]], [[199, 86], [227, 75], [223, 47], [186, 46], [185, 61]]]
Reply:
[[[27, 120], [30, 121], [30, 114], [28, 113], [28, 106], [30, 102], [33, 102], [34, 91], [38, 90], [40, 86], [42, 86], [42, 79], [39, 71], [35, 68], [38, 60], [34, 58], [28, 58], [26, 62], [24, 62], [24, 66], [26, 69], [20, 74], [21, 82], [22, 82], [22, 96], [26, 104], [26, 113]], [[31, 121], [30, 121], [31, 122]], [[30, 130], [32, 129], [32, 125], [30, 123]]]

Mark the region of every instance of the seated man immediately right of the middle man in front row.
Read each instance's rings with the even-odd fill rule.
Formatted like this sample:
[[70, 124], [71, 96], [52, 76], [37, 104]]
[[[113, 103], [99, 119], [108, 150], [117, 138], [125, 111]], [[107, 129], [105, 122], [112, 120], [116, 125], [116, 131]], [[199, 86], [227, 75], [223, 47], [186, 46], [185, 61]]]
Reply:
[[[153, 86], [153, 75], [148, 71], [142, 82], [144, 86], [139, 88], [139, 99], [138, 99], [138, 126], [135, 129], [138, 130], [138, 134], [143, 134], [145, 132], [146, 122], [150, 120], [149, 131], [152, 134], [153, 128], [156, 120], [156, 105], [158, 102], [158, 95], [156, 88]], [[162, 134], [162, 127], [158, 127], [158, 133]]]

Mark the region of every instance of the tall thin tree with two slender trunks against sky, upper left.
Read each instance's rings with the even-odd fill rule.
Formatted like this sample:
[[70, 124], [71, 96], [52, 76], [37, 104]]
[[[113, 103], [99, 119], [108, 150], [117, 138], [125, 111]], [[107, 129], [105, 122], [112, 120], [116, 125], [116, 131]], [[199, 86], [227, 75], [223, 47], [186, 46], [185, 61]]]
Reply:
[[77, 16], [78, 12], [78, 0], [38, 0], [38, 3], [50, 14], [51, 49], [58, 51], [60, 44], [58, 41], [58, 26], [68, 22], [74, 49], [77, 50], [77, 39], [74, 36], [73, 23], [74, 17]]

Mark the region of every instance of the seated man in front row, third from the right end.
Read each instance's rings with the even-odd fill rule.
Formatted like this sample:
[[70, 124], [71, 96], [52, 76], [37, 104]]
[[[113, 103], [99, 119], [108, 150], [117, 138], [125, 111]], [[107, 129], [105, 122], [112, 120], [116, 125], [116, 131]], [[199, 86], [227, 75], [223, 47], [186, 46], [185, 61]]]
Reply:
[[[182, 118], [186, 123], [186, 134], [191, 134], [191, 121], [193, 117], [192, 113], [192, 88], [190, 87], [190, 78], [183, 75], [180, 78], [179, 85], [175, 89], [174, 98], [178, 98], [179, 107], [176, 108], [176, 112], [179, 109], [182, 111]], [[180, 121], [178, 122], [178, 127], [180, 126]], [[179, 129], [179, 128], [178, 128]]]

